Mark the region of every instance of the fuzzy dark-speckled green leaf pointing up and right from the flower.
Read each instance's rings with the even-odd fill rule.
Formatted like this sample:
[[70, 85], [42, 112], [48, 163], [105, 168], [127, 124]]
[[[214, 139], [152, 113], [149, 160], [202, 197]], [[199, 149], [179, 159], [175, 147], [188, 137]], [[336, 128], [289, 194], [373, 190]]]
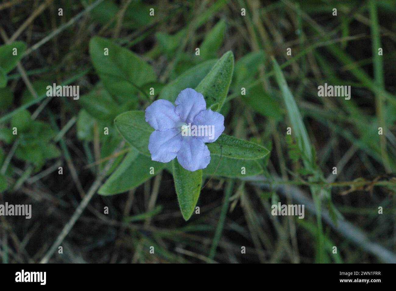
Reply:
[[217, 61], [208, 75], [196, 87], [195, 90], [204, 95], [207, 108], [214, 103], [219, 103], [217, 111], [221, 109], [228, 94], [233, 70], [234, 55], [231, 51], [228, 51]]

